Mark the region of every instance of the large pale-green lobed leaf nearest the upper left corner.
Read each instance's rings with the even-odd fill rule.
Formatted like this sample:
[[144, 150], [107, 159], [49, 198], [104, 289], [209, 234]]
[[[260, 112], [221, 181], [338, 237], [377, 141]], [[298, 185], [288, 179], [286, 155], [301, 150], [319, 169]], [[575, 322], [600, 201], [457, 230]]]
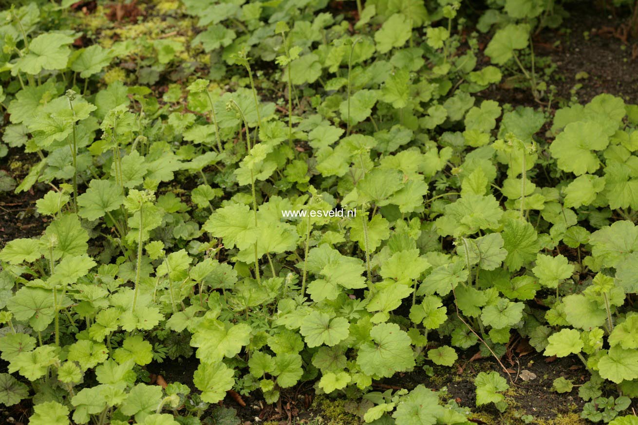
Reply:
[[68, 47], [71, 43], [73, 38], [64, 34], [40, 34], [29, 43], [29, 52], [11, 68], [11, 75], [17, 75], [19, 71], [36, 75], [41, 70], [63, 70], [71, 54]]

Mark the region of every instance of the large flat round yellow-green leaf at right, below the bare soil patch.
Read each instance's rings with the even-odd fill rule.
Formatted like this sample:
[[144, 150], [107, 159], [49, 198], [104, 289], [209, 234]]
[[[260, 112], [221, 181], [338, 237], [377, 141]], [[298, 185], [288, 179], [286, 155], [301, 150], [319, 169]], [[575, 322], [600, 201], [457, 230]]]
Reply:
[[600, 160], [593, 151], [602, 151], [607, 145], [609, 137], [597, 123], [571, 123], [549, 145], [549, 151], [558, 159], [558, 168], [581, 175], [600, 168]]

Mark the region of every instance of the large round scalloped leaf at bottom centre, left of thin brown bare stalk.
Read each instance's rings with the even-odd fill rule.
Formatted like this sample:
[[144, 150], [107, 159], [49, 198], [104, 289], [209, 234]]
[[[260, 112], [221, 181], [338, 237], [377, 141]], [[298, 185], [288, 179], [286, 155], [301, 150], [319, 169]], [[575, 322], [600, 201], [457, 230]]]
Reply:
[[357, 355], [357, 364], [366, 375], [391, 377], [414, 367], [410, 336], [401, 331], [399, 325], [375, 325], [370, 336], [373, 343], [364, 343]]

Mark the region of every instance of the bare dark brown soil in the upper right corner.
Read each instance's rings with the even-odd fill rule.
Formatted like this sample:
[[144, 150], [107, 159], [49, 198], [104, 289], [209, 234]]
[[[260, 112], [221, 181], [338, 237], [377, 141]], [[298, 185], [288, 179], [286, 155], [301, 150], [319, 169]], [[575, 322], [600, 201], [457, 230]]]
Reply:
[[[601, 93], [636, 103], [638, 40], [625, 36], [628, 16], [614, 16], [610, 10], [597, 8], [590, 2], [575, 3], [568, 12], [570, 16], [559, 29], [545, 28], [533, 39], [537, 57], [548, 57], [556, 66], [547, 84], [556, 86], [553, 105], [574, 96], [580, 103], [587, 103]], [[479, 60], [489, 64], [487, 57]], [[537, 69], [539, 74], [542, 71]], [[479, 97], [511, 103], [514, 107], [540, 106], [530, 89], [512, 87], [507, 75], [499, 86], [479, 93]]]

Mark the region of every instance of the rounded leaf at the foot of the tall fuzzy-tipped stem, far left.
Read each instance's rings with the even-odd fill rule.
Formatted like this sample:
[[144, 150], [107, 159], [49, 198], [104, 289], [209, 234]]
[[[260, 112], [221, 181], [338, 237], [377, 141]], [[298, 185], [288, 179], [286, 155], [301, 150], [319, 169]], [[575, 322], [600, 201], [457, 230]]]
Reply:
[[122, 188], [110, 180], [93, 179], [85, 193], [78, 197], [78, 214], [87, 220], [97, 220], [123, 203]]

